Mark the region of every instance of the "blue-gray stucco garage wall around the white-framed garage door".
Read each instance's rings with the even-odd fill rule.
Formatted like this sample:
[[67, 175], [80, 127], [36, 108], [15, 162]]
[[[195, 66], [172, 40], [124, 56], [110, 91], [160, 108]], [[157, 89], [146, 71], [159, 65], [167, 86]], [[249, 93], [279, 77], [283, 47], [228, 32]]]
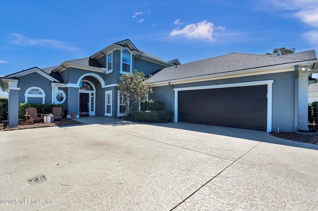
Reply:
[[[272, 131], [277, 127], [282, 132], [294, 131], [294, 72], [274, 73], [267, 75], [239, 77], [214, 81], [204, 81], [174, 85], [174, 88], [230, 84], [250, 81], [274, 80], [272, 92]], [[154, 87], [154, 94], [149, 99], [163, 101], [167, 110], [173, 105], [172, 89], [169, 86]], [[166, 107], [166, 105], [168, 107]]]

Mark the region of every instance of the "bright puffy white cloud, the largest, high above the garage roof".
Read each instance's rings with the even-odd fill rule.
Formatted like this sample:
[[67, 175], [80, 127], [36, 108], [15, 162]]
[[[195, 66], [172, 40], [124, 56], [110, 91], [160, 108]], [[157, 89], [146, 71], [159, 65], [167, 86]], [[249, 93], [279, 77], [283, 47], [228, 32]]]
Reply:
[[183, 29], [173, 29], [170, 36], [184, 36], [188, 39], [203, 39], [214, 41], [212, 38], [214, 24], [206, 20], [200, 23], [186, 25]]

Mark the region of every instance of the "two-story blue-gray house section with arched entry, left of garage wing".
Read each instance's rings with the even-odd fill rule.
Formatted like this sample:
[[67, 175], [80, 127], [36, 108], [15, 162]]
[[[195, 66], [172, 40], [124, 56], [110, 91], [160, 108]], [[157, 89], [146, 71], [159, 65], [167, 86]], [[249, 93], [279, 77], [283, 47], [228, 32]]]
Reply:
[[62, 104], [68, 117], [70, 113], [117, 117], [125, 115], [123, 96], [116, 87], [122, 74], [137, 69], [147, 76], [178, 64], [178, 59], [165, 61], [124, 40], [87, 58], [33, 67], [6, 78], [16, 80], [18, 103]]

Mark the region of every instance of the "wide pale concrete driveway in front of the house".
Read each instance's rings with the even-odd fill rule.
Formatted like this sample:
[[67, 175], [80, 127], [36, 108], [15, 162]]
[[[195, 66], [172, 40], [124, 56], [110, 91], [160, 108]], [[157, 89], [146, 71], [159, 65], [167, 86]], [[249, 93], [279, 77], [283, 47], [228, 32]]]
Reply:
[[0, 132], [1, 211], [318, 208], [316, 145], [207, 125], [79, 121]]

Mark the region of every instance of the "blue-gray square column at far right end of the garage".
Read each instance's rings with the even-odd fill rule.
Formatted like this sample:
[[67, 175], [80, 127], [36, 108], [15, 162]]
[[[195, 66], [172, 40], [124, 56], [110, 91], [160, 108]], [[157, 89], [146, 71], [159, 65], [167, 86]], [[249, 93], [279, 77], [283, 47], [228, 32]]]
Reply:
[[308, 128], [308, 77], [310, 72], [301, 72], [298, 79], [298, 130]]

